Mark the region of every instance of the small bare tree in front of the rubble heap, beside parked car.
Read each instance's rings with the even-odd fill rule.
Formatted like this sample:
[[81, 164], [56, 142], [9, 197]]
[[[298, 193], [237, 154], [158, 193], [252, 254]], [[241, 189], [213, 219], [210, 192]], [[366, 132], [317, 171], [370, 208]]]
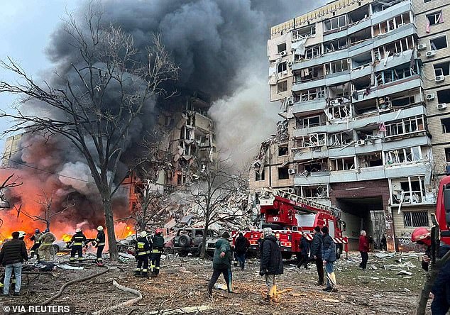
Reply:
[[200, 258], [204, 258], [209, 227], [212, 224], [233, 219], [241, 208], [227, 209], [229, 200], [242, 191], [248, 192], [248, 177], [230, 165], [229, 160], [205, 162], [197, 157], [197, 180], [190, 186], [190, 201], [200, 209], [204, 230]]

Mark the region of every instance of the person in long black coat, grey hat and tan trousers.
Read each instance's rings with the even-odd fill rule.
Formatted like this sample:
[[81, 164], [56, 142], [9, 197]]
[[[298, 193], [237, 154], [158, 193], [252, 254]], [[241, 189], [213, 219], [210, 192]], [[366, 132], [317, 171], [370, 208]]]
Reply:
[[275, 275], [282, 275], [283, 265], [280, 246], [277, 238], [272, 233], [272, 228], [263, 228], [264, 239], [260, 245], [261, 264], [259, 275], [265, 275], [267, 285], [267, 299], [273, 299], [273, 292], [276, 290]]

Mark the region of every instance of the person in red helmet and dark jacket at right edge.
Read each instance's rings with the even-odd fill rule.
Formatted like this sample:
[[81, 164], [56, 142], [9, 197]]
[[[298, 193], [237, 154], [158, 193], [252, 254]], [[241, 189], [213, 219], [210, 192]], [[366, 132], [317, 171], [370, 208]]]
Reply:
[[[432, 238], [428, 228], [416, 228], [412, 232], [411, 241], [422, 245], [425, 255], [422, 258], [422, 268], [428, 271], [429, 262], [431, 261], [431, 245]], [[442, 258], [450, 250], [450, 246], [442, 243], [437, 249], [437, 258]], [[432, 314], [445, 315], [450, 309], [450, 262], [446, 262], [441, 267], [432, 287], [433, 302]]]

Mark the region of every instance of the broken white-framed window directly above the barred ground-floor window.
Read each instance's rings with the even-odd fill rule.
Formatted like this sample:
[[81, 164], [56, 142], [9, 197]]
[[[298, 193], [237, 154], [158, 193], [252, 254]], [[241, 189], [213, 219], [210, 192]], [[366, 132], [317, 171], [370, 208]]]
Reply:
[[423, 176], [413, 176], [403, 179], [391, 179], [390, 187], [393, 194], [393, 204], [424, 202], [426, 194]]

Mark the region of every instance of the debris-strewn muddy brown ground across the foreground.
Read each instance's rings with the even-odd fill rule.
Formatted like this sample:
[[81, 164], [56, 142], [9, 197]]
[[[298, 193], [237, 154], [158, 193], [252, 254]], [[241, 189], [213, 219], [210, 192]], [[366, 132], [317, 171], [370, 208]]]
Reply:
[[[350, 253], [349, 260], [336, 262], [339, 291], [331, 294], [314, 285], [317, 281], [315, 265], [310, 264], [312, 268], [304, 270], [295, 267], [295, 260], [287, 261], [284, 275], [277, 277], [278, 289], [284, 293], [280, 294], [278, 303], [271, 305], [262, 299], [265, 284], [263, 277], [258, 274], [259, 262], [256, 259], [248, 260], [244, 271], [234, 268], [234, 289], [237, 294], [214, 289], [213, 299], [206, 296], [207, 282], [212, 274], [212, 262], [209, 260], [169, 255], [162, 260], [160, 277], [149, 279], [133, 277], [135, 263], [130, 260], [109, 264], [110, 270], [104, 275], [70, 285], [50, 304], [70, 305], [70, 314], [91, 314], [136, 297], [114, 287], [112, 281], [116, 280], [119, 284], [140, 291], [143, 299], [131, 306], [103, 314], [183, 314], [163, 310], [187, 306], [203, 306], [205, 310], [197, 314], [414, 313], [425, 275], [415, 255], [405, 257], [396, 254], [392, 258], [377, 258], [371, 253], [367, 270], [358, 268], [360, 261], [357, 253]], [[397, 266], [385, 268], [385, 265]], [[40, 304], [55, 295], [63, 284], [103, 270], [94, 265], [84, 267], [84, 270], [25, 275], [21, 296], [2, 297], [1, 303]], [[409, 270], [412, 275], [397, 275], [400, 270]], [[219, 283], [224, 283], [224, 280], [219, 279]]]

